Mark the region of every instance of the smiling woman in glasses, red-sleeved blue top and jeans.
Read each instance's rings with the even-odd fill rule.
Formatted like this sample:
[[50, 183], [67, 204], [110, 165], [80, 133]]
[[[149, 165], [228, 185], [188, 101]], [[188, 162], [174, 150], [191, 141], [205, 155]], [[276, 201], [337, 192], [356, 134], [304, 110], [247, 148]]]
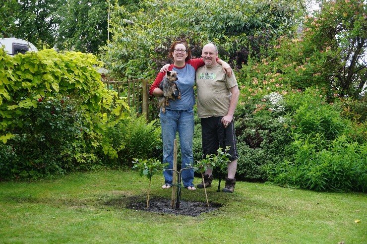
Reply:
[[[171, 45], [169, 55], [173, 59], [174, 64], [171, 64], [168, 70], [175, 70], [178, 73], [176, 81], [180, 92], [181, 99], [169, 101], [169, 106], [166, 106], [166, 112], [160, 112], [160, 121], [162, 127], [163, 140], [163, 163], [169, 163], [168, 169], [173, 168], [173, 151], [176, 132], [179, 132], [182, 168], [187, 168], [193, 164], [192, 139], [194, 133], [194, 111], [195, 96], [193, 86], [195, 83], [195, 71], [198, 67], [204, 65], [202, 59], [190, 59], [191, 51], [185, 42], [176, 41]], [[231, 69], [228, 63], [218, 60], [218, 63]], [[163, 95], [163, 91], [159, 88], [159, 84], [164, 78], [165, 73], [159, 72], [154, 83], [152, 84], [149, 93], [154, 96]], [[172, 185], [172, 170], [163, 172], [165, 183], [162, 188], [170, 188]], [[193, 184], [194, 172], [193, 169], [182, 171], [183, 186], [189, 190], [195, 190]]]

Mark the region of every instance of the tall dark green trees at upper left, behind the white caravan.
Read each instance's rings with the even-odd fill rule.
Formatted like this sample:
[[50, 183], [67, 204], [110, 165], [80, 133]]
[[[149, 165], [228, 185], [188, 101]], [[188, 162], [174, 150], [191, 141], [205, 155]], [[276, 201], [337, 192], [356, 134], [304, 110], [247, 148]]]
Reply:
[[[0, 38], [15, 37], [60, 50], [98, 53], [108, 39], [108, 3], [114, 0], [5, 0]], [[118, 0], [129, 11], [138, 0]]]

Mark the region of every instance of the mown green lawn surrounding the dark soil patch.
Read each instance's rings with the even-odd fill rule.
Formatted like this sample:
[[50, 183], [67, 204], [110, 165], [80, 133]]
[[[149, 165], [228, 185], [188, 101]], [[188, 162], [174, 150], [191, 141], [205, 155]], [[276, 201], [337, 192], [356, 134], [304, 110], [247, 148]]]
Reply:
[[[169, 199], [162, 183], [162, 175], [153, 177], [151, 196]], [[146, 193], [148, 179], [136, 172], [2, 182], [0, 243], [367, 243], [366, 194], [245, 182], [228, 194], [216, 192], [213, 183], [209, 201], [223, 206], [189, 217], [106, 205]], [[182, 199], [205, 202], [204, 191], [183, 189]]]

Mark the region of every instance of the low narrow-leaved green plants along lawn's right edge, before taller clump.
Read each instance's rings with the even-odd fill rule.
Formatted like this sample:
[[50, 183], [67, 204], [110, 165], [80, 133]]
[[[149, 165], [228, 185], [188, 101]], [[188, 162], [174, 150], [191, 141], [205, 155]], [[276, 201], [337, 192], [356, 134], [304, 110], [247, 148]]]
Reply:
[[330, 150], [308, 141], [292, 143], [293, 161], [268, 169], [269, 181], [317, 191], [367, 191], [367, 143], [336, 138]]

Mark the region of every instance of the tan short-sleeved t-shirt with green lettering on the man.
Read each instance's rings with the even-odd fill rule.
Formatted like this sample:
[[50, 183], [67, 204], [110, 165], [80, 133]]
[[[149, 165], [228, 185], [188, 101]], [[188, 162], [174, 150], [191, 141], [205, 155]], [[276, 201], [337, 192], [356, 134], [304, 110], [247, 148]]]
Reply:
[[196, 71], [196, 86], [199, 118], [227, 115], [231, 101], [229, 89], [237, 86], [234, 74], [228, 77], [220, 64], [204, 65]]

